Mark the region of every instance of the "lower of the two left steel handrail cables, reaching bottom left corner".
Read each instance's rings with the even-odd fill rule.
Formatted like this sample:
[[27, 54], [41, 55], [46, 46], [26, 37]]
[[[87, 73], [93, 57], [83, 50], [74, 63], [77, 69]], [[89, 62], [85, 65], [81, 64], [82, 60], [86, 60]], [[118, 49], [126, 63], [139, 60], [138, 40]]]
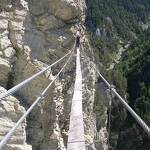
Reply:
[[13, 133], [16, 131], [16, 129], [19, 127], [19, 125], [24, 121], [24, 119], [28, 116], [28, 114], [37, 105], [37, 103], [40, 100], [44, 99], [44, 96], [45, 96], [46, 92], [48, 91], [48, 89], [51, 87], [51, 85], [55, 82], [55, 80], [59, 77], [59, 75], [61, 74], [61, 72], [65, 69], [65, 67], [69, 63], [69, 61], [70, 61], [70, 59], [71, 59], [71, 57], [73, 55], [73, 52], [74, 52], [74, 49], [70, 52], [71, 55], [69, 56], [69, 58], [67, 59], [66, 63], [64, 64], [64, 66], [62, 67], [62, 69], [59, 71], [59, 73], [55, 76], [55, 78], [49, 83], [49, 85], [44, 89], [44, 91], [40, 94], [40, 96], [33, 102], [33, 104], [29, 107], [29, 109], [18, 120], [18, 122], [16, 123], [16, 125], [5, 135], [5, 137], [3, 138], [3, 140], [0, 142], [0, 150], [7, 143], [7, 141], [9, 140], [9, 138], [13, 135]]

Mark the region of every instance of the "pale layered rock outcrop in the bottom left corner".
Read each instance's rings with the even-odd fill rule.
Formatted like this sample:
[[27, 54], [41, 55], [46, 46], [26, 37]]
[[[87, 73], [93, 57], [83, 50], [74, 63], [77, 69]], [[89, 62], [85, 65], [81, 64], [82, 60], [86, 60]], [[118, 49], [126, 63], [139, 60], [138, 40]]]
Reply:
[[[0, 87], [0, 93], [3, 92], [6, 92], [6, 90]], [[15, 97], [9, 96], [0, 102], [0, 140], [15, 125], [24, 112], [25, 109], [20, 106], [19, 100]], [[32, 150], [32, 147], [26, 144], [25, 128], [26, 121], [19, 126], [15, 134], [3, 147], [3, 150]]]

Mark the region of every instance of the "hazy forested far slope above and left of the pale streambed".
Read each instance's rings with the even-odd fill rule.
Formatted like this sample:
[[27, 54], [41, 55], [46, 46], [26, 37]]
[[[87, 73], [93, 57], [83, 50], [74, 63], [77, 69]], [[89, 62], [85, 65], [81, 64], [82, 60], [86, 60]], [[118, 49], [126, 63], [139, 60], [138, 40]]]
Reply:
[[[148, 0], [86, 0], [86, 26], [97, 60], [108, 67], [121, 45], [143, 33], [140, 22], [149, 21]], [[96, 35], [96, 30], [100, 35]]]

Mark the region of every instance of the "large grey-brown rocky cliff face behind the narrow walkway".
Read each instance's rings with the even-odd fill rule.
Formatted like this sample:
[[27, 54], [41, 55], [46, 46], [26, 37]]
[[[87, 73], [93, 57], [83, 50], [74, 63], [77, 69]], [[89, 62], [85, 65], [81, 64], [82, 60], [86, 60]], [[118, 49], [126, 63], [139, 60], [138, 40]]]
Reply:
[[[84, 34], [85, 7], [85, 2], [81, 0], [0, 1], [0, 85], [9, 89], [71, 50], [77, 28], [82, 28]], [[93, 114], [96, 82], [96, 73], [90, 65], [94, 61], [93, 54], [85, 37], [82, 38], [82, 45], [87, 149], [106, 150], [106, 123], [98, 132]], [[66, 149], [74, 86], [74, 62], [73, 57], [45, 100], [27, 118], [27, 142], [32, 145], [33, 150]], [[18, 107], [27, 109], [61, 67], [62, 63], [19, 90], [15, 95], [21, 100], [21, 104], [17, 101]], [[5, 124], [0, 123], [5, 128]], [[25, 126], [23, 131], [25, 132]]]

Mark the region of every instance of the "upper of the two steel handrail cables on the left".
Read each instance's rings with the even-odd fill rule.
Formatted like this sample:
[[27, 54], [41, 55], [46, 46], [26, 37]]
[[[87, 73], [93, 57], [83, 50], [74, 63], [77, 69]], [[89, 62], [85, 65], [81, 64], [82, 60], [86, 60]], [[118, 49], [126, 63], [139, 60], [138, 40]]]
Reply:
[[21, 83], [19, 83], [16, 86], [14, 86], [13, 88], [9, 89], [8, 91], [0, 94], [0, 101], [4, 100], [5, 97], [12, 95], [16, 91], [18, 91], [20, 88], [24, 87], [27, 83], [29, 83], [30, 81], [32, 81], [33, 79], [35, 79], [39, 75], [41, 75], [44, 72], [46, 72], [47, 70], [49, 70], [51, 67], [53, 67], [54, 65], [56, 65], [57, 63], [59, 63], [60, 61], [62, 61], [64, 58], [66, 58], [70, 53], [71, 53], [71, 51], [69, 51], [69, 53], [67, 53], [65, 56], [63, 56], [62, 58], [60, 58], [59, 60], [57, 60], [56, 62], [54, 62], [53, 64], [51, 64], [50, 66], [48, 66], [45, 69], [41, 70], [40, 72], [34, 74], [33, 76], [25, 79], [24, 81], [22, 81]]

